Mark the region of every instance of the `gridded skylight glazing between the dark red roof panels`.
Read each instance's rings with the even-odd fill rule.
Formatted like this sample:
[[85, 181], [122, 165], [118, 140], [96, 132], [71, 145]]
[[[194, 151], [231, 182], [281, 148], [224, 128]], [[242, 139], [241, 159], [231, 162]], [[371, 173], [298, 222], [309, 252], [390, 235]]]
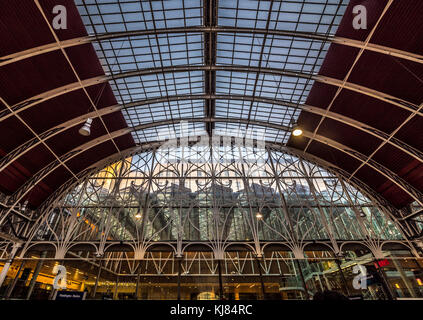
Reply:
[[[178, 121], [194, 118], [188, 135], [259, 131], [285, 144], [349, 0], [220, 0], [215, 18], [210, 0], [75, 2], [97, 36], [94, 47], [128, 126], [147, 125], [132, 132], [137, 143], [166, 130], [178, 136]], [[212, 119], [211, 130], [198, 121], [204, 118]]]

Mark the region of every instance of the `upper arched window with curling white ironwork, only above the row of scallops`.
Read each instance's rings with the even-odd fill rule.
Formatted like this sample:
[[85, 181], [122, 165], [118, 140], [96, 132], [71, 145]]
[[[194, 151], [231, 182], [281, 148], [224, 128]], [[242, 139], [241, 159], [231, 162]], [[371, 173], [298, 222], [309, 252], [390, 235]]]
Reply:
[[[48, 216], [48, 218], [47, 218]], [[349, 183], [289, 153], [253, 146], [164, 145], [86, 178], [47, 213], [45, 240], [233, 242], [260, 253], [279, 243], [402, 239], [378, 206]], [[175, 249], [182, 254], [182, 247]]]

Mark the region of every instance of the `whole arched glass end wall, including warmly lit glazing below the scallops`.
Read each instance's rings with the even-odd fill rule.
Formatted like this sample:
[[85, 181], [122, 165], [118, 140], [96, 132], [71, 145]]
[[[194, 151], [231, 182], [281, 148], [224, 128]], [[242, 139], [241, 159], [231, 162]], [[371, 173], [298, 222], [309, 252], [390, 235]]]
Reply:
[[[46, 258], [47, 275], [64, 265], [91, 299], [308, 299], [325, 288], [387, 299], [399, 281], [419, 283], [384, 206], [333, 168], [257, 140], [202, 138], [87, 175], [45, 206], [16, 261]], [[357, 265], [381, 264], [385, 287], [352, 285]], [[417, 296], [411, 286], [401, 292]]]

